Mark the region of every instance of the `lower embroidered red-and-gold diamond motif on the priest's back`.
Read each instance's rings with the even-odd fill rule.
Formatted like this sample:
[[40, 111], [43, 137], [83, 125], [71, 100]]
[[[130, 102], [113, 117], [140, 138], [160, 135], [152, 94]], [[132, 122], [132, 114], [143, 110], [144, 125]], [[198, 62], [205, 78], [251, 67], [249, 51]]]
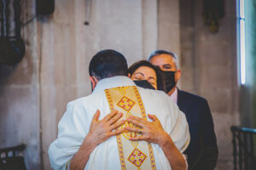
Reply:
[[141, 150], [134, 149], [131, 152], [131, 155], [128, 157], [128, 161], [131, 161], [133, 165], [136, 167], [141, 167], [143, 164], [143, 161], [145, 161], [147, 156], [143, 154]]

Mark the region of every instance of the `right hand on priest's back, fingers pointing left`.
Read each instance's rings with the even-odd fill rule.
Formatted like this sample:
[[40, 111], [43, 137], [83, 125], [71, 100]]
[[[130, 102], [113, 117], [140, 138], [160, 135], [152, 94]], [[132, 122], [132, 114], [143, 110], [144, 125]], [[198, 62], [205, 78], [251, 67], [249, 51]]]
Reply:
[[125, 130], [142, 134], [142, 136], [130, 138], [131, 140], [145, 140], [150, 143], [160, 145], [163, 144], [163, 142], [170, 138], [169, 135], [164, 131], [156, 116], [148, 114], [148, 117], [152, 119], [153, 122], [148, 122], [137, 116], [129, 116], [126, 121], [132, 122], [133, 124], [137, 125], [137, 127], [140, 127], [140, 129], [134, 127], [125, 127]]

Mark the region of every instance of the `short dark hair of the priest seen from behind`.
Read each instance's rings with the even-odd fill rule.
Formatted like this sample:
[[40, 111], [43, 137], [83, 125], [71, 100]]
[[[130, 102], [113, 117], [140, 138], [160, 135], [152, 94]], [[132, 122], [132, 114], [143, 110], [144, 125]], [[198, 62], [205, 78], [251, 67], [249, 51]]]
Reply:
[[95, 54], [90, 60], [90, 77], [98, 80], [115, 76], [127, 76], [128, 65], [123, 54], [113, 50], [104, 49]]

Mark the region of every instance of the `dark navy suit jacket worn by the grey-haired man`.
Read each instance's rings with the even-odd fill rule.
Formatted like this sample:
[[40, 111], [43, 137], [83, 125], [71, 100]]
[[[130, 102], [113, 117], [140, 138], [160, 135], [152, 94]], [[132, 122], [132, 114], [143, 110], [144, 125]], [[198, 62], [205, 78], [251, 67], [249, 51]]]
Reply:
[[184, 152], [188, 156], [189, 170], [214, 169], [218, 146], [207, 100], [177, 89], [177, 105], [189, 123], [190, 143]]

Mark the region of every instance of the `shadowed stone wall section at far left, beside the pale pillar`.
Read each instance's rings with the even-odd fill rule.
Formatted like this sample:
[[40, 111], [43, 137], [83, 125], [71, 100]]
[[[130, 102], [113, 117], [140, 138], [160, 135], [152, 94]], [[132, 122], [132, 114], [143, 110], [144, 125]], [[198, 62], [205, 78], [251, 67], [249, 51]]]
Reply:
[[[23, 1], [21, 20], [35, 15], [35, 2]], [[26, 165], [40, 167], [37, 23], [22, 28], [26, 56], [15, 66], [0, 65], [0, 148], [26, 144]], [[1, 48], [1, 47], [0, 47]]]

